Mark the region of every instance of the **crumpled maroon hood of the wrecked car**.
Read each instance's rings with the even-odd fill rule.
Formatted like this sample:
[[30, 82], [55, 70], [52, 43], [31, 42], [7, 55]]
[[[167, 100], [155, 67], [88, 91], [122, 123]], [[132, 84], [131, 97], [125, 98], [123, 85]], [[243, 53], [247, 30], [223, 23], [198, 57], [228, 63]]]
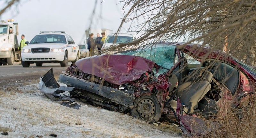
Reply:
[[80, 59], [76, 66], [86, 74], [101, 77], [106, 81], [121, 85], [132, 82], [147, 71], [152, 72], [158, 65], [146, 58], [132, 55], [104, 54]]

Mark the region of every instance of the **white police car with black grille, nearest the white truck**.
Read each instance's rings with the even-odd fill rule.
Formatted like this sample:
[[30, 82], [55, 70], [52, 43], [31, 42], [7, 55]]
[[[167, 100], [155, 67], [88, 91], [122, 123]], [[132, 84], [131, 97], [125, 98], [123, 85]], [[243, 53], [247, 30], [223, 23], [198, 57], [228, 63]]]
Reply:
[[42, 66], [50, 62], [66, 67], [68, 62], [75, 63], [79, 57], [78, 45], [65, 31], [40, 32], [21, 51], [23, 67], [29, 67], [30, 63]]

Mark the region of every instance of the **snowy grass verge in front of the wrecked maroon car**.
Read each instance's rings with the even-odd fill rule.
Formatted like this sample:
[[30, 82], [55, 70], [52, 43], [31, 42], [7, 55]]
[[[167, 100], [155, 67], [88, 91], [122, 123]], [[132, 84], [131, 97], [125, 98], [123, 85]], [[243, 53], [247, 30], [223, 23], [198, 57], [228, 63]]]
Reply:
[[[39, 80], [38, 80], [39, 82]], [[2, 138], [177, 138], [179, 128], [167, 123], [153, 126], [127, 114], [108, 111], [81, 101], [79, 109], [46, 98], [38, 83], [28, 81], [0, 86]]]

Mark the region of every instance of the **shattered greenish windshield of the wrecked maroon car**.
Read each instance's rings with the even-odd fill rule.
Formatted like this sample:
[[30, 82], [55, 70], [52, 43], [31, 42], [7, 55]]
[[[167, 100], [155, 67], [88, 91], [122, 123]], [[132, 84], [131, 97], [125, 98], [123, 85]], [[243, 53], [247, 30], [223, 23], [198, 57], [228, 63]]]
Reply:
[[125, 52], [122, 54], [136, 55], [147, 58], [157, 65], [164, 67], [165, 69], [159, 69], [159, 73], [163, 74], [173, 66], [174, 50], [176, 46], [169, 43], [157, 43], [144, 46], [145, 48], [137, 49], [135, 51]]

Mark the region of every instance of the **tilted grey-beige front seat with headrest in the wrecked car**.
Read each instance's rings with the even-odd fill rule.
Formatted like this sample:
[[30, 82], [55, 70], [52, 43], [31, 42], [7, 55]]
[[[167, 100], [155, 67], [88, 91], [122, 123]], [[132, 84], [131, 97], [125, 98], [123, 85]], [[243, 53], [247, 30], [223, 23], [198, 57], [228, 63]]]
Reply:
[[190, 80], [178, 87], [176, 95], [188, 107], [187, 113], [194, 113], [194, 110], [198, 108], [198, 102], [211, 89], [212, 78], [212, 73], [205, 71], [196, 80]]

